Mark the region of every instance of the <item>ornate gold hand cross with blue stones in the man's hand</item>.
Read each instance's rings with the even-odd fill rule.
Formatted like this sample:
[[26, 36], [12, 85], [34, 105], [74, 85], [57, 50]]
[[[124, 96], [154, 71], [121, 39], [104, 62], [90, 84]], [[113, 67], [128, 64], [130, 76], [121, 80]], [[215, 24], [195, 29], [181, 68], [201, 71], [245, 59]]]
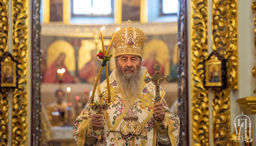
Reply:
[[149, 77], [147, 76], [144, 81], [146, 83], [149, 83], [149, 82], [153, 82], [154, 85], [156, 85], [156, 93], [155, 93], [155, 101], [156, 102], [160, 102], [161, 101], [161, 97], [160, 97], [160, 84], [163, 82], [163, 81], [166, 81], [166, 82], [169, 82], [171, 80], [171, 76], [170, 75], [165, 75], [165, 76], [162, 76], [162, 74], [160, 74], [159, 70], [161, 69], [161, 66], [159, 64], [156, 64], [154, 66], [154, 69], [155, 69], [155, 74], [152, 76], [152, 77]]

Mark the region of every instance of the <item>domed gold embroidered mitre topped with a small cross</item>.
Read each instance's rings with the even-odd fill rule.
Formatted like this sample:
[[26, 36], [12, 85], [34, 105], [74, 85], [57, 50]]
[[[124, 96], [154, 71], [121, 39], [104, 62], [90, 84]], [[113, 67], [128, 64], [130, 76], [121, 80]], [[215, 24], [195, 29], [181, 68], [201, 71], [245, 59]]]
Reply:
[[113, 40], [116, 49], [115, 58], [121, 55], [137, 55], [142, 58], [142, 49], [146, 41], [146, 36], [139, 28], [130, 27], [120, 28]]

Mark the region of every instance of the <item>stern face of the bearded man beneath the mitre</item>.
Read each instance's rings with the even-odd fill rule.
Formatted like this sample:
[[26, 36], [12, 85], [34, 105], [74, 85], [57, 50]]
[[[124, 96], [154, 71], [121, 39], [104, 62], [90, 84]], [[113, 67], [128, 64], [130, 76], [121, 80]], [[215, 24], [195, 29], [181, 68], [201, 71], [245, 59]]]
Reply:
[[140, 58], [135, 55], [122, 55], [117, 58], [117, 65], [125, 74], [134, 74], [140, 64]]

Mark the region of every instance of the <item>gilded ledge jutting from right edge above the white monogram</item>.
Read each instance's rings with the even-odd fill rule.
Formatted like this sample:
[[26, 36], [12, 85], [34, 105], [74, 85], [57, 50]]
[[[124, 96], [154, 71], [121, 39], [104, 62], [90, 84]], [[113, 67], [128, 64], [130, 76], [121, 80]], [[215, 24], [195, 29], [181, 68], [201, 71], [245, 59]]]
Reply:
[[236, 102], [239, 107], [242, 108], [245, 114], [255, 114], [256, 113], [256, 97], [245, 97], [237, 99]]

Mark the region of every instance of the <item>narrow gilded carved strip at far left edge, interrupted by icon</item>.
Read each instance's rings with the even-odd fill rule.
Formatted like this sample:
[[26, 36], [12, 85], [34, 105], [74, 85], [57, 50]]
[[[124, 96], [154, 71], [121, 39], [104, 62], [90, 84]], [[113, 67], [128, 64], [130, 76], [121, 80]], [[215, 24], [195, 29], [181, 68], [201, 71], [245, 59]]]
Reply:
[[[4, 54], [8, 51], [8, 32], [9, 32], [9, 24], [8, 24], [8, 0], [0, 0], [0, 11], [1, 11], [1, 17], [0, 17], [0, 42], [2, 43], [0, 45], [0, 55]], [[0, 92], [0, 145], [9, 145], [8, 143], [8, 108], [9, 108], [9, 97], [8, 97], [8, 91], [6, 89], [2, 89]]]

